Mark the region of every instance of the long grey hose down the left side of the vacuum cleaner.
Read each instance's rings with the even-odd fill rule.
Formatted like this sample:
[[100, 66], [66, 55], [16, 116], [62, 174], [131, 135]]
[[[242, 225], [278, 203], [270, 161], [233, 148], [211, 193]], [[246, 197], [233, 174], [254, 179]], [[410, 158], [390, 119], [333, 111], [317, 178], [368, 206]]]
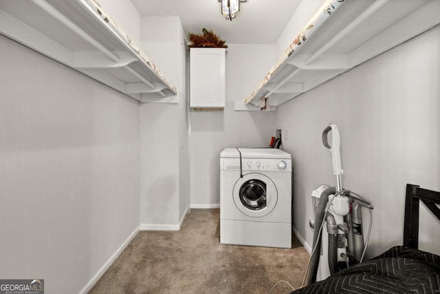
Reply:
[[[315, 249], [312, 251], [312, 255], [310, 257], [310, 266], [307, 271], [307, 279], [306, 285], [316, 282], [316, 273], [318, 273], [318, 265], [319, 265], [319, 255], [320, 255], [320, 247], [321, 247], [321, 238], [319, 228], [324, 222], [325, 208], [327, 207], [327, 202], [329, 201], [329, 196], [336, 193], [335, 187], [329, 187], [325, 189], [320, 196], [318, 207], [316, 207], [315, 211], [315, 230], [314, 230], [314, 242], [312, 248]], [[338, 246], [338, 245], [336, 245]]]

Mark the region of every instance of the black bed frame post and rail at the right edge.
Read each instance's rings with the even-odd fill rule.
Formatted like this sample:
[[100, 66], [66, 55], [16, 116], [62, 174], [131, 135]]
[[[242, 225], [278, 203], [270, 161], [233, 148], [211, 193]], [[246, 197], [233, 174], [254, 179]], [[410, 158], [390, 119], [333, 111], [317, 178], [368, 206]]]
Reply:
[[420, 200], [440, 220], [440, 192], [421, 189], [417, 185], [406, 184], [404, 246], [419, 247], [419, 205]]

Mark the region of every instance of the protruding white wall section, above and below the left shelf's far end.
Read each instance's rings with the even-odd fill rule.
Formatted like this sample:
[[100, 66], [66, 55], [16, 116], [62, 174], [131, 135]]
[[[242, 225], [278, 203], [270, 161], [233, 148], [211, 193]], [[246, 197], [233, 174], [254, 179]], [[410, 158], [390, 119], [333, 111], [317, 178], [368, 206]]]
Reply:
[[141, 48], [179, 90], [140, 105], [142, 229], [179, 229], [189, 207], [186, 45], [179, 17], [142, 17]]

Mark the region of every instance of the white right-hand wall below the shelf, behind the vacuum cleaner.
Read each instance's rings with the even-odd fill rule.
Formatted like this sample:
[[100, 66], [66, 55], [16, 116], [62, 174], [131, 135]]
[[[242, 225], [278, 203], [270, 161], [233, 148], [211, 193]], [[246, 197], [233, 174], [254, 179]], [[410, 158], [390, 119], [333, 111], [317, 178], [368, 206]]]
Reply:
[[[370, 256], [402, 243], [406, 183], [440, 190], [439, 52], [437, 27], [278, 108], [294, 165], [294, 227], [309, 245], [310, 193], [334, 185], [321, 142], [330, 123], [340, 129], [344, 188], [375, 206]], [[438, 225], [423, 216], [421, 249], [440, 253]]]

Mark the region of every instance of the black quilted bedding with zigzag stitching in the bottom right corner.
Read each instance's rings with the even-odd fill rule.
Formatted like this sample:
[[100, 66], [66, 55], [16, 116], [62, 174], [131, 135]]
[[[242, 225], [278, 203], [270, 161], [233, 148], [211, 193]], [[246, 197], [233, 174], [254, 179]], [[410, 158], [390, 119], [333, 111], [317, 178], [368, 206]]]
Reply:
[[440, 256], [395, 246], [292, 293], [440, 293]]

